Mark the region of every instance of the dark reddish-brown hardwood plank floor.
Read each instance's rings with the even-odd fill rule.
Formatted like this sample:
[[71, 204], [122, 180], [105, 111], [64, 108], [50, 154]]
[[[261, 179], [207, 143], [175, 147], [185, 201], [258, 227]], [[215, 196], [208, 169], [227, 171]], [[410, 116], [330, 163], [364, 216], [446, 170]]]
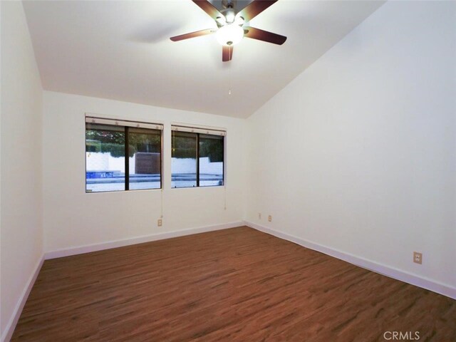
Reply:
[[385, 331], [456, 341], [456, 301], [239, 227], [45, 261], [11, 341], [369, 342]]

